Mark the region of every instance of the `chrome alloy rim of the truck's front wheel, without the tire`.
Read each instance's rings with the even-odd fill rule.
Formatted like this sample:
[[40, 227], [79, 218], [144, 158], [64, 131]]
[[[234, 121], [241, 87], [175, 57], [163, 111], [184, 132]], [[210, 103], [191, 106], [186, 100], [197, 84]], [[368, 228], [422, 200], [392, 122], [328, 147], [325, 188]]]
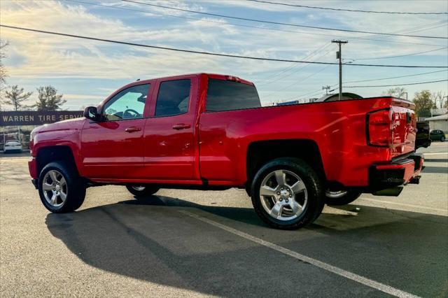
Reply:
[[45, 200], [52, 207], [64, 205], [67, 198], [67, 183], [62, 173], [56, 170], [50, 170], [45, 173], [42, 180], [42, 190]]

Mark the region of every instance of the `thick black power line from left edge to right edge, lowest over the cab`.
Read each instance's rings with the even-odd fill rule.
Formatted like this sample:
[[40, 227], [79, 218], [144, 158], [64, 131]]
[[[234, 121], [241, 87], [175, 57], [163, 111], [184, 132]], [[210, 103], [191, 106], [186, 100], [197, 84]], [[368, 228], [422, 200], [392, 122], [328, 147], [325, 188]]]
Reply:
[[[111, 39], [105, 39], [105, 38], [97, 38], [97, 37], [90, 37], [90, 36], [81, 36], [81, 35], [75, 35], [75, 34], [66, 34], [66, 33], [60, 33], [60, 32], [54, 32], [54, 31], [44, 31], [39, 29], [30, 29], [30, 28], [24, 28], [24, 27], [16, 27], [16, 26], [10, 26], [5, 24], [0, 24], [0, 27], [5, 27], [9, 29], [17, 29], [17, 30], [24, 30], [24, 31], [31, 31], [31, 32], [38, 32], [43, 34], [52, 34], [52, 35], [58, 35], [58, 36], [68, 36], [73, 38], [82, 38], [82, 39], [88, 39], [91, 41], [104, 41], [106, 43], [118, 43], [122, 45], [134, 45], [137, 47], [142, 48], [154, 48], [159, 50], [172, 50], [174, 52], [188, 52], [188, 53], [194, 53], [194, 54], [201, 54], [201, 55], [211, 55], [211, 56], [218, 56], [218, 57], [230, 57], [230, 58], [240, 58], [240, 59], [252, 59], [252, 60], [262, 60], [262, 61], [272, 61], [272, 62], [294, 62], [294, 63], [308, 63], [308, 64], [330, 64], [335, 65], [337, 63], [335, 62], [317, 62], [317, 61], [301, 61], [301, 60], [292, 60], [292, 59], [276, 59], [276, 58], [263, 58], [263, 57], [253, 57], [253, 56], [243, 56], [243, 55], [230, 55], [230, 54], [222, 54], [217, 52], [204, 52], [204, 51], [197, 51], [197, 50], [185, 50], [180, 48], [168, 48], [168, 47], [162, 47], [158, 45], [145, 45], [142, 43], [130, 43], [125, 41], [114, 41]], [[423, 66], [423, 65], [387, 65], [387, 64], [355, 64], [355, 63], [349, 63], [344, 65], [350, 65], [350, 66], [374, 66], [374, 67], [402, 67], [402, 68], [426, 68], [426, 69], [447, 69], [448, 66]]]

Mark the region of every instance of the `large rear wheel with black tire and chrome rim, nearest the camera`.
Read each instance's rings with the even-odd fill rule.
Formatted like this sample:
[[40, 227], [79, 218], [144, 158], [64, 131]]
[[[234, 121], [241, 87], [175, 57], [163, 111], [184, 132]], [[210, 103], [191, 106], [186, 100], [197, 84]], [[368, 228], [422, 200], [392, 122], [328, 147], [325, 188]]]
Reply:
[[323, 208], [323, 186], [302, 159], [283, 157], [262, 166], [253, 178], [252, 204], [258, 216], [277, 229], [298, 229]]

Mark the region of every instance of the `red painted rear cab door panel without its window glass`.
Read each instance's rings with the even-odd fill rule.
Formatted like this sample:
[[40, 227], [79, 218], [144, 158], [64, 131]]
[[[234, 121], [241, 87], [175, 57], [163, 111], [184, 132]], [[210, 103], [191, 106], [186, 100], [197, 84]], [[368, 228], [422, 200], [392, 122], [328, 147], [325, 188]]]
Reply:
[[[160, 83], [167, 80], [191, 80], [188, 112], [168, 117], [155, 117], [155, 99]], [[144, 132], [144, 168], [141, 178], [151, 180], [197, 180], [200, 183], [199, 148], [197, 147], [197, 96], [199, 76], [177, 76], [160, 79], [155, 84], [153, 104], [149, 108]], [[190, 183], [190, 182], [188, 182]]]

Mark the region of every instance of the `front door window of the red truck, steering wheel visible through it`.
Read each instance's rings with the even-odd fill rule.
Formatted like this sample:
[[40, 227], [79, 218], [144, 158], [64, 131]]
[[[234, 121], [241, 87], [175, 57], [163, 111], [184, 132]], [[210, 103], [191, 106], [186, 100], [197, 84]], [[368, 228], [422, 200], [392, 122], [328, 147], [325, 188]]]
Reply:
[[103, 119], [106, 121], [143, 118], [150, 84], [129, 87], [106, 102]]

